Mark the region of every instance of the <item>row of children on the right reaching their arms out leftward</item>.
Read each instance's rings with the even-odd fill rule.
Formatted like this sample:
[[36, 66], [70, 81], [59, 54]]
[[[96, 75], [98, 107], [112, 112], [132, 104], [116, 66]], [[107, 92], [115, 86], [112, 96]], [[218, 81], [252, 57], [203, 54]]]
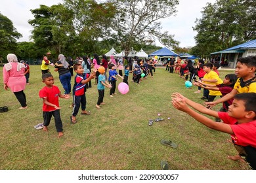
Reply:
[[[256, 57], [238, 58], [235, 74], [226, 75], [223, 81], [212, 68], [211, 63], [203, 64], [205, 75], [194, 81], [195, 86], [209, 90], [204, 103], [207, 107], [180, 93], [173, 93], [173, 107], [211, 129], [230, 134], [238, 155], [228, 158], [246, 162], [251, 169], [256, 169]], [[222, 97], [213, 101], [217, 95]], [[210, 109], [219, 103], [223, 103], [219, 112]], [[215, 117], [217, 122], [223, 120], [223, 123], [216, 123], [199, 112]]]

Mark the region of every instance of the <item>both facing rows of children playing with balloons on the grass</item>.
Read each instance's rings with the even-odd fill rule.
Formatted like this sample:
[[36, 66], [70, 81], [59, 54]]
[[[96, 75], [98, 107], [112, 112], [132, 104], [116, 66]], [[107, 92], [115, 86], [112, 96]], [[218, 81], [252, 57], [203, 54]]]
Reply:
[[[201, 62], [200, 62], [201, 63]], [[114, 64], [109, 65], [109, 77], [106, 82], [106, 69], [102, 66], [98, 67], [98, 101], [96, 108], [100, 108], [100, 105], [104, 105], [104, 87], [110, 88], [110, 97], [113, 97], [116, 89], [117, 76], [123, 79], [123, 82], [128, 84], [128, 76], [130, 72], [133, 72], [133, 80], [139, 84], [140, 76], [142, 73], [145, 76], [150, 73], [149, 65], [152, 66], [150, 60], [144, 63], [138, 61], [134, 65], [133, 71], [130, 71], [125, 65], [125, 77], [119, 75], [116, 71]], [[222, 131], [231, 135], [232, 142], [238, 155], [228, 156], [233, 160], [240, 160], [247, 162], [251, 169], [256, 168], [256, 57], [238, 58], [235, 74], [229, 74], [224, 77], [224, 80], [219, 78], [218, 72], [213, 71], [212, 63], [202, 63], [202, 70], [205, 72], [203, 76], [199, 76], [199, 80], [192, 80], [194, 86], [209, 90], [207, 101], [203, 107], [202, 105], [195, 103], [194, 101], [184, 97], [180, 93], [173, 93], [172, 104], [173, 107], [186, 112], [198, 122]], [[141, 70], [142, 71], [141, 71]], [[200, 69], [198, 69], [199, 71]], [[83, 67], [77, 63], [74, 65], [74, 71], [77, 74], [75, 76], [75, 84], [73, 88], [74, 108], [70, 121], [75, 124], [76, 118], [81, 105], [81, 114], [89, 115], [90, 112], [85, 110], [86, 108], [86, 84], [96, 77], [96, 70], [91, 74], [84, 75]], [[192, 71], [194, 72], [194, 71]], [[191, 73], [193, 75], [193, 73]], [[153, 75], [152, 75], [153, 76]], [[192, 76], [193, 77], [193, 76]], [[51, 121], [51, 116], [54, 116], [56, 130], [58, 137], [62, 137], [63, 129], [60, 119], [60, 107], [58, 103], [58, 97], [70, 98], [70, 95], [62, 95], [57, 86], [54, 86], [54, 78], [51, 74], [47, 73], [42, 76], [45, 87], [40, 90], [39, 96], [43, 98], [43, 131], [48, 131], [47, 126]], [[200, 92], [197, 92], [200, 93]], [[206, 92], [204, 92], [206, 93]], [[214, 101], [216, 96], [222, 96], [220, 99]], [[211, 110], [210, 108], [218, 103], [223, 103], [223, 107], [219, 112]], [[192, 110], [188, 105], [198, 112], [213, 116], [219, 122], [220, 119], [223, 123], [216, 123], [210, 118], [203, 116], [202, 114]]]

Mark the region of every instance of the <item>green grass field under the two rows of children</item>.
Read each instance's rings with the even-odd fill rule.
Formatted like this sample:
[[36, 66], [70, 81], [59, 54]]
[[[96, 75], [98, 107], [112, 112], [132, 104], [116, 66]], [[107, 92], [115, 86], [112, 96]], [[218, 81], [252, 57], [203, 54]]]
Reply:
[[[121, 95], [117, 91], [111, 98], [106, 89], [106, 105], [100, 109], [95, 107], [98, 91], [93, 85], [86, 93], [91, 116], [78, 114], [77, 124], [70, 123], [72, 99], [60, 99], [64, 137], [58, 139], [53, 119], [48, 132], [33, 128], [43, 122], [38, 93], [44, 84], [40, 65], [30, 68], [30, 85], [24, 91], [29, 107], [26, 110], [18, 110], [20, 104], [14, 94], [3, 90], [0, 73], [0, 106], [9, 107], [9, 112], [0, 113], [0, 169], [154, 170], [160, 169], [161, 160], [168, 161], [174, 170], [247, 169], [226, 158], [236, 154], [227, 142], [228, 134], [209, 129], [172, 107], [173, 92], [202, 103], [202, 94], [194, 93], [197, 88], [186, 89], [177, 74], [158, 67], [154, 78], [143, 80], [140, 86], [131, 82], [130, 75], [129, 93]], [[58, 74], [53, 68], [51, 71], [63, 93]], [[219, 72], [223, 78], [233, 71]], [[164, 120], [148, 126], [148, 120], [158, 118], [158, 113]], [[161, 139], [169, 139], [178, 147], [163, 146]]]

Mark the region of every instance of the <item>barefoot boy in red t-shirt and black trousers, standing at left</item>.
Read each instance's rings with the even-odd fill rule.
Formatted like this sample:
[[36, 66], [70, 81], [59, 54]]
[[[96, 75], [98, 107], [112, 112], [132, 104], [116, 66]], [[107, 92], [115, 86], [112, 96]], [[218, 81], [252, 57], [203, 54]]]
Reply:
[[43, 99], [43, 131], [48, 131], [51, 117], [54, 116], [58, 137], [63, 136], [62, 121], [60, 119], [60, 105], [58, 97], [69, 99], [70, 95], [62, 95], [58, 86], [54, 86], [53, 75], [46, 73], [42, 76], [45, 87], [39, 91], [39, 97]]

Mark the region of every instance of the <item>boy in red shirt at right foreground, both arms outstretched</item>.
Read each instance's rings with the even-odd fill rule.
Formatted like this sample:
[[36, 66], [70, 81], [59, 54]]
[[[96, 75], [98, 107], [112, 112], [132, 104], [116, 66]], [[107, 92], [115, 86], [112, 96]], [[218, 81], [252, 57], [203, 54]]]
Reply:
[[[186, 112], [211, 129], [230, 134], [238, 155], [228, 156], [229, 159], [246, 161], [251, 169], [256, 169], [256, 93], [235, 95], [228, 112], [216, 112], [205, 108], [180, 93], [173, 93], [172, 97], [173, 107]], [[192, 110], [188, 105], [203, 114], [221, 118], [224, 123], [216, 123]]]

